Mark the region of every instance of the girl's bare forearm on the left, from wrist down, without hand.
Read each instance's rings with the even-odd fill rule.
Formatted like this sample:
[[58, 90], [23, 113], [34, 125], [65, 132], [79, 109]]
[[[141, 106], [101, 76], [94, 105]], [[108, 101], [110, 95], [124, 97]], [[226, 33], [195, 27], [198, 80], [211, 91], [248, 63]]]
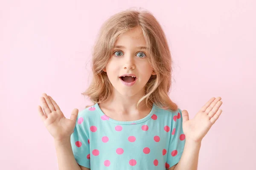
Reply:
[[90, 170], [81, 169], [72, 152], [70, 139], [64, 141], [54, 141], [58, 159], [59, 170]]

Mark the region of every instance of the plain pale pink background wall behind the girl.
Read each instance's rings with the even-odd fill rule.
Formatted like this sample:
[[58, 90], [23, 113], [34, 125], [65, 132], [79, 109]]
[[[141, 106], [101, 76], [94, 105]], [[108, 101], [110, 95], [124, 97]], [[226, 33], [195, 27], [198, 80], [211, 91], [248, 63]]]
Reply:
[[0, 169], [57, 170], [38, 116], [42, 93], [64, 115], [90, 104], [91, 50], [99, 28], [130, 7], [151, 11], [172, 51], [170, 97], [190, 118], [221, 96], [198, 170], [253, 170], [256, 162], [256, 3], [253, 0], [1, 0]]

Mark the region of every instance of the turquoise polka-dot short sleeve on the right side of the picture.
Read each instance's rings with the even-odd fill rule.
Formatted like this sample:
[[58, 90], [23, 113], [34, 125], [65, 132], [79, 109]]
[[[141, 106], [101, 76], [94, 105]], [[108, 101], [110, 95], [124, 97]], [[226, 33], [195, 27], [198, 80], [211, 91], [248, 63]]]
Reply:
[[172, 131], [168, 148], [166, 169], [174, 166], [180, 161], [185, 146], [185, 135], [182, 127], [181, 110], [178, 109], [172, 116]]

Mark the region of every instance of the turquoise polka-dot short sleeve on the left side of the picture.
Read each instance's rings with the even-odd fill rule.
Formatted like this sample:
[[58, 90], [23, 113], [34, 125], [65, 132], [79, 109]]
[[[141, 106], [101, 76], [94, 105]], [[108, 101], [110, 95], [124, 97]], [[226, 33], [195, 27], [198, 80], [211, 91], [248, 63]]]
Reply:
[[90, 141], [83, 128], [83, 123], [82, 117], [77, 118], [74, 132], [70, 136], [70, 142], [76, 162], [83, 167], [90, 168]]

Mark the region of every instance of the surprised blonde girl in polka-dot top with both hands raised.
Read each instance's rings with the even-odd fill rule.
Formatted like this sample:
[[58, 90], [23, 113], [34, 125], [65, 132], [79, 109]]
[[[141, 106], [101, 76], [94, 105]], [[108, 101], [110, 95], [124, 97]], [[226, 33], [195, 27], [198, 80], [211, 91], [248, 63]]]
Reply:
[[[39, 114], [60, 170], [196, 170], [201, 140], [221, 114], [210, 99], [189, 120], [169, 98], [172, 58], [156, 18], [126, 10], [109, 18], [93, 49], [93, 105], [66, 119], [43, 94]], [[79, 113], [79, 114], [78, 114]]]

